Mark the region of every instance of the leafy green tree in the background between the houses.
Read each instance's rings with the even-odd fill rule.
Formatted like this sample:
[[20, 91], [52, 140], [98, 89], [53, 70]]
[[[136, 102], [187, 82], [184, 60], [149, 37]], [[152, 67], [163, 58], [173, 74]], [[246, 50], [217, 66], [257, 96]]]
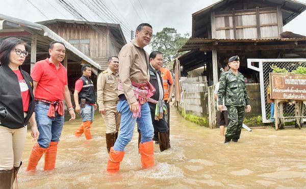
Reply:
[[183, 52], [177, 52], [189, 39], [189, 34], [181, 36], [177, 34], [174, 28], [164, 28], [152, 37], [151, 46], [153, 50], [163, 53], [164, 67], [172, 68], [173, 59], [183, 55]]

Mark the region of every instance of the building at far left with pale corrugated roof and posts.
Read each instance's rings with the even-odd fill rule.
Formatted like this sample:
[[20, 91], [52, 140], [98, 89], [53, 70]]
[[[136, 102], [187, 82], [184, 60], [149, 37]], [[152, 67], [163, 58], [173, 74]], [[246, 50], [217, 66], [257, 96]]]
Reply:
[[96, 75], [101, 71], [101, 67], [95, 61], [45, 25], [0, 14], [0, 40], [9, 37], [17, 37], [30, 45], [29, 56], [22, 65], [22, 69], [28, 73], [31, 72], [37, 61], [49, 57], [48, 46], [50, 42], [63, 42], [66, 47], [66, 56], [62, 63], [67, 69], [70, 91], [74, 89], [75, 79], [81, 76], [82, 65], [91, 65], [94, 82], [96, 82]]

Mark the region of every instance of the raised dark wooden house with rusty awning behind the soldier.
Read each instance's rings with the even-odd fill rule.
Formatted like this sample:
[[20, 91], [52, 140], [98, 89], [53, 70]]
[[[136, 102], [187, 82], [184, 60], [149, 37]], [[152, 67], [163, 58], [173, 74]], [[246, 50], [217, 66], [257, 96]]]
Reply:
[[[178, 58], [181, 75], [204, 67], [208, 84], [214, 85], [228, 58], [240, 56], [240, 71], [250, 83], [258, 74], [247, 69], [248, 58], [306, 58], [306, 37], [283, 32], [283, 26], [306, 9], [293, 0], [222, 0], [192, 14], [192, 36]], [[177, 61], [176, 61], [177, 62]], [[178, 65], [177, 63], [174, 64]]]

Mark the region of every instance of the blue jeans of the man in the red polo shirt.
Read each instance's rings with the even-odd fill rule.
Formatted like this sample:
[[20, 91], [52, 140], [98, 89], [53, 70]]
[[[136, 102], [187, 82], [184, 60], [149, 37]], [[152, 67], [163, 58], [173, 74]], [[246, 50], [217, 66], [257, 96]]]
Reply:
[[35, 118], [39, 131], [37, 142], [42, 148], [48, 148], [51, 141], [60, 141], [64, 124], [64, 116], [56, 112], [55, 118], [49, 118], [48, 110], [48, 105], [35, 104]]

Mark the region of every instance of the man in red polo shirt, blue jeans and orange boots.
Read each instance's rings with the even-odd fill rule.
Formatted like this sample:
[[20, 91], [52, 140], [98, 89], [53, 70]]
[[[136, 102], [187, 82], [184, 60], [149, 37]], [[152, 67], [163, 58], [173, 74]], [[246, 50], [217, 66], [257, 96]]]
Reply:
[[35, 116], [40, 136], [33, 146], [27, 171], [35, 170], [41, 156], [45, 153], [44, 170], [55, 168], [57, 145], [64, 124], [64, 101], [71, 116], [75, 113], [68, 90], [67, 70], [61, 64], [65, 58], [62, 42], [49, 44], [50, 58], [37, 62], [31, 76], [34, 80]]

